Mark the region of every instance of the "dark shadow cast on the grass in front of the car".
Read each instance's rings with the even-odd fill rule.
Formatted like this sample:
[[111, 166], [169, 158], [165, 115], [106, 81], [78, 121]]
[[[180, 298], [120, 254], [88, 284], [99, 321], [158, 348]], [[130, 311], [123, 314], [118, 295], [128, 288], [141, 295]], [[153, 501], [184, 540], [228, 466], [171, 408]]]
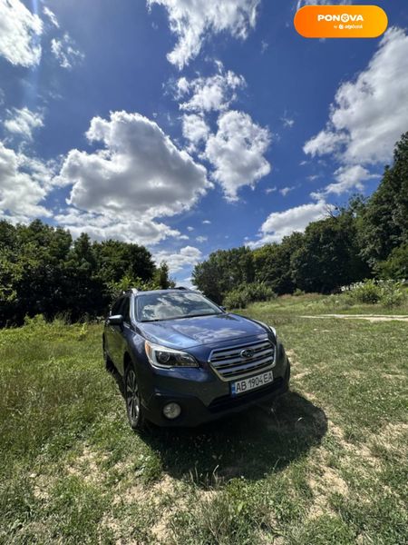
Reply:
[[192, 476], [207, 487], [223, 479], [263, 478], [320, 443], [327, 430], [325, 412], [293, 392], [270, 407], [248, 411], [196, 429], [154, 428], [141, 439], [160, 455], [164, 471]]

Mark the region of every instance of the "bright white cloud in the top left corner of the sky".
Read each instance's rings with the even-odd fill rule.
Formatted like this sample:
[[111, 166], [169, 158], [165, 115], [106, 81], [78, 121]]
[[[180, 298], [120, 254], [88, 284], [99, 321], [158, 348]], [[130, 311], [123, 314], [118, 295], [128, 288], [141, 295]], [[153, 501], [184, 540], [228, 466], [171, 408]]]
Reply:
[[43, 22], [20, 0], [0, 0], [0, 55], [11, 64], [40, 62]]

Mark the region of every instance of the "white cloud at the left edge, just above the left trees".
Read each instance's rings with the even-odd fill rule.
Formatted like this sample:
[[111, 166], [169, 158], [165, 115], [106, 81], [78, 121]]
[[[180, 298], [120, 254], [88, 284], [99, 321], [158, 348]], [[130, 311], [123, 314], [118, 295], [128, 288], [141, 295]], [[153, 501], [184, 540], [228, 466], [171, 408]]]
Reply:
[[51, 215], [41, 204], [47, 194], [45, 183], [40, 181], [42, 174], [45, 179], [50, 177], [43, 163], [30, 161], [0, 142], [0, 218], [26, 223]]

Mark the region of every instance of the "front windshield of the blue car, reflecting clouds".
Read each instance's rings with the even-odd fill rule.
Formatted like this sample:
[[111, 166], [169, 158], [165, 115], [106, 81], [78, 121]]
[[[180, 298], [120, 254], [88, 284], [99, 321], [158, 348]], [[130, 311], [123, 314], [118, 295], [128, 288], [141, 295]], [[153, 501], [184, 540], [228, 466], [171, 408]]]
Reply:
[[146, 293], [137, 299], [139, 322], [156, 322], [221, 314], [219, 307], [199, 293]]

